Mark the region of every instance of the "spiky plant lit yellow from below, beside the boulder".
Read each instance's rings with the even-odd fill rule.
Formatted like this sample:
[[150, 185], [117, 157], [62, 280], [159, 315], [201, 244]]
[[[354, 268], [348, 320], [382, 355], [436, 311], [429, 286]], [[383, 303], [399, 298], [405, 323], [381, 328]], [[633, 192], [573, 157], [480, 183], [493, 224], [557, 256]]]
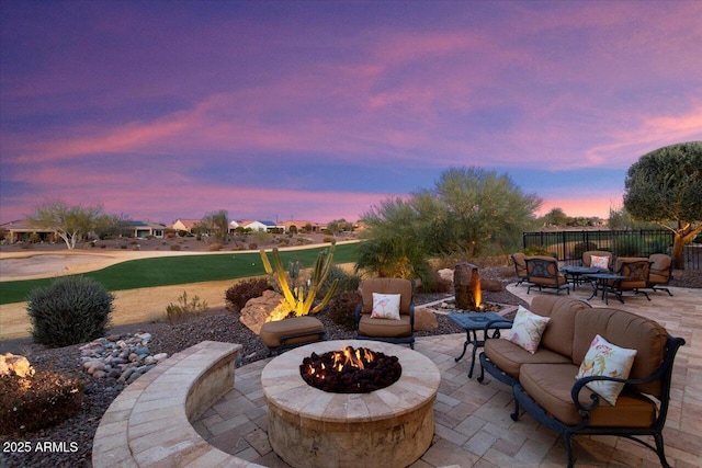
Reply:
[[329, 300], [333, 297], [337, 292], [337, 285], [339, 283], [338, 279], [335, 279], [331, 283], [331, 287], [321, 299], [319, 304], [317, 304], [314, 308], [312, 307], [319, 288], [321, 288], [325, 279], [329, 275], [329, 270], [332, 266], [331, 261], [333, 260], [333, 252], [336, 249], [336, 242], [331, 242], [331, 247], [329, 251], [321, 251], [319, 255], [317, 255], [317, 262], [315, 263], [315, 269], [313, 271], [312, 277], [298, 285], [292, 286], [287, 282], [287, 275], [285, 274], [285, 269], [283, 267], [283, 261], [281, 260], [281, 255], [278, 249], [273, 249], [273, 266], [271, 266], [271, 262], [268, 260], [268, 255], [264, 250], [261, 250], [261, 260], [263, 261], [263, 267], [265, 269], [265, 273], [273, 276], [278, 284], [281, 286], [283, 292], [283, 296], [285, 297], [285, 301], [290, 306], [291, 310], [295, 312], [295, 317], [306, 316], [310, 311], [312, 313], [316, 313], [327, 307]]

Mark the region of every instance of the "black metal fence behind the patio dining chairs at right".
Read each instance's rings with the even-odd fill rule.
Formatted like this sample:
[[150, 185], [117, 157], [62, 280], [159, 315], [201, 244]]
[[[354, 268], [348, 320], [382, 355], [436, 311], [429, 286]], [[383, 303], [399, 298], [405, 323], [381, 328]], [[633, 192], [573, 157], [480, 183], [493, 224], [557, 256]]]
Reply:
[[[566, 264], [577, 264], [582, 252], [605, 250], [615, 256], [670, 254], [673, 235], [666, 229], [539, 231], [522, 235], [524, 249], [541, 248]], [[702, 270], [702, 244], [684, 247], [686, 270]]]

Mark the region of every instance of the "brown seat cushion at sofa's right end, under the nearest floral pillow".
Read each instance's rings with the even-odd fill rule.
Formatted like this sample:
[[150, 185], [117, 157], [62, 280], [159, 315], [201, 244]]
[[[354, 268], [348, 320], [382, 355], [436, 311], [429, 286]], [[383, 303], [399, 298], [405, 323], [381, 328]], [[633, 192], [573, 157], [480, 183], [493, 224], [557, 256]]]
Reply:
[[[570, 397], [578, 366], [574, 364], [524, 364], [519, 381], [524, 390], [558, 421], [573, 425], [582, 421]], [[580, 391], [580, 402], [589, 404], [592, 390]], [[600, 406], [590, 412], [590, 426], [649, 427], [656, 419], [653, 401], [624, 390], [611, 406], [600, 399]]]

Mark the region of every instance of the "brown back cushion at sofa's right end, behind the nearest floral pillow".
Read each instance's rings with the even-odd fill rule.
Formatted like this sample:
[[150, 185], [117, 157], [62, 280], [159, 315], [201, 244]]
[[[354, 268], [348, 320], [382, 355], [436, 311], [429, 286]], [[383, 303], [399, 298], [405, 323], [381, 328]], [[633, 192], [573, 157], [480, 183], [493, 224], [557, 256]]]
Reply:
[[[635, 313], [597, 308], [582, 309], [576, 313], [573, 341], [574, 364], [579, 366], [582, 363], [597, 334], [620, 347], [637, 351], [630, 378], [647, 377], [663, 363], [668, 336], [665, 328]], [[654, 396], [659, 395], [660, 387], [660, 380], [633, 386], [637, 391]]]

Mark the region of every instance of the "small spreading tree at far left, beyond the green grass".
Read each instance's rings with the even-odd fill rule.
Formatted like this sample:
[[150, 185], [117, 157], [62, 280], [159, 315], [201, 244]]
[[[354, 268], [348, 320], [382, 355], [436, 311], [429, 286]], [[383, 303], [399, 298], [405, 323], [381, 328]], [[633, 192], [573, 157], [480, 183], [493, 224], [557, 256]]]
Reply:
[[90, 232], [120, 222], [115, 217], [105, 215], [100, 205], [68, 206], [61, 201], [49, 201], [37, 206], [34, 214], [27, 216], [27, 221], [35, 228], [55, 231], [69, 250], [75, 249], [76, 243]]

